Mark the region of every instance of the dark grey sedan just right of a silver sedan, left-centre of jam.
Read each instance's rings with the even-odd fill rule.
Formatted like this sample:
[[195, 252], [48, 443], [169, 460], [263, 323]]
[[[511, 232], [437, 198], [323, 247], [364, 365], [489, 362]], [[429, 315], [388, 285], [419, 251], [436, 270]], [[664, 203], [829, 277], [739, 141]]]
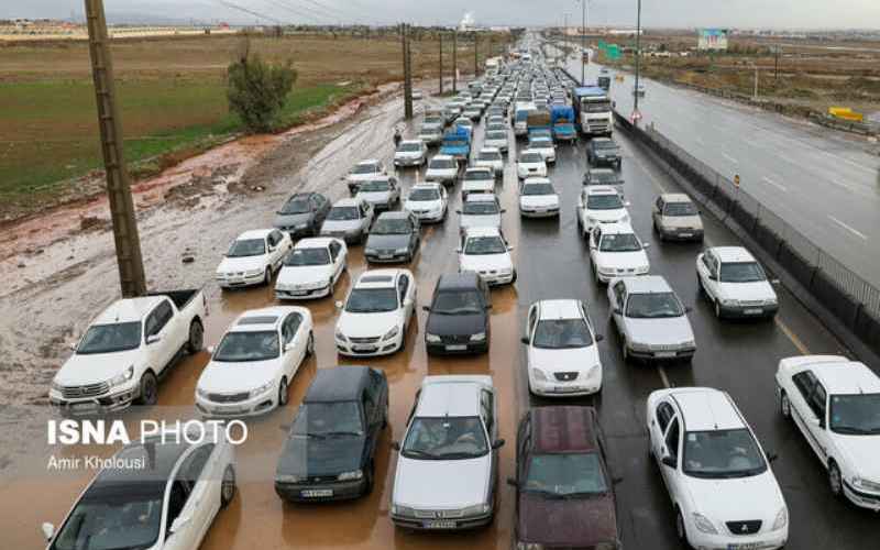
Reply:
[[364, 256], [370, 263], [409, 263], [419, 250], [419, 220], [408, 211], [383, 212], [370, 228]]

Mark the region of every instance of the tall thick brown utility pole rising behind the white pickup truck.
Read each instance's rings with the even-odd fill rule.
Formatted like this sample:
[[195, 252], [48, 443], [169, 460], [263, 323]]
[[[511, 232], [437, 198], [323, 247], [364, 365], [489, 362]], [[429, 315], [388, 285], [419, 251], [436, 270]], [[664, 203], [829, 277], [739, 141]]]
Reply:
[[91, 76], [95, 81], [95, 99], [98, 105], [98, 128], [101, 134], [101, 153], [107, 172], [107, 196], [110, 202], [110, 219], [113, 223], [113, 241], [117, 249], [119, 283], [125, 298], [146, 294], [144, 262], [141, 256], [141, 239], [138, 235], [138, 219], [122, 151], [122, 124], [116, 100], [113, 63], [110, 57], [110, 38], [107, 35], [107, 19], [103, 0], [85, 0], [86, 24], [89, 32], [89, 56]]

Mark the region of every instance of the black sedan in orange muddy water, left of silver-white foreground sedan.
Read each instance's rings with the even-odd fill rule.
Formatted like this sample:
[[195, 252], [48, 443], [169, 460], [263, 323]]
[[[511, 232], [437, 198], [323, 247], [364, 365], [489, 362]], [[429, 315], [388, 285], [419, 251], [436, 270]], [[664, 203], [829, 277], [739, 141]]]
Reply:
[[388, 382], [367, 366], [319, 369], [275, 472], [285, 501], [341, 501], [373, 490], [374, 457], [388, 425]]

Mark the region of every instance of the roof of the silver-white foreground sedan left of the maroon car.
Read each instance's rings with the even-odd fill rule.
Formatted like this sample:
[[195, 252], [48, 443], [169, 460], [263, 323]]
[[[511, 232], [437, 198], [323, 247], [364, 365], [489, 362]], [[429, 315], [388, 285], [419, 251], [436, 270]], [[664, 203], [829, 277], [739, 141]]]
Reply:
[[416, 416], [480, 416], [480, 391], [492, 386], [488, 376], [426, 376]]

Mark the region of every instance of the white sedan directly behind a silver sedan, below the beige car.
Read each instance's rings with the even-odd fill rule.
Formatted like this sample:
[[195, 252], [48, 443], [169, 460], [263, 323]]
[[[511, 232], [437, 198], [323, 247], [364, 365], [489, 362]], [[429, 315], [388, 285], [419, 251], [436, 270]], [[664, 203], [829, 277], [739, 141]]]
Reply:
[[647, 275], [651, 268], [644, 243], [628, 223], [603, 223], [593, 228], [590, 237], [590, 263], [596, 283], [614, 277]]

